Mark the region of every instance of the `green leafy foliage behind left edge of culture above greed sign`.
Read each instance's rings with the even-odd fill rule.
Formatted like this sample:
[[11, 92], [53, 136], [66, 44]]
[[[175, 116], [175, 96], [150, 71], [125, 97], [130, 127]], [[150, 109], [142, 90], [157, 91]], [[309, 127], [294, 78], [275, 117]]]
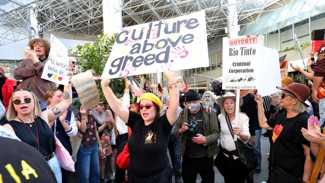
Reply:
[[[115, 42], [117, 33], [112, 36], [107, 34], [98, 35], [98, 40], [93, 43], [85, 42], [84, 45], [77, 45], [73, 51], [77, 62], [81, 65], [81, 70], [84, 72], [93, 69], [93, 75], [101, 75], [108, 56], [111, 52], [112, 46]], [[71, 53], [72, 50], [69, 50]], [[100, 86], [100, 80], [96, 80], [97, 88], [100, 95], [100, 100], [105, 100]], [[124, 92], [124, 78], [115, 78], [110, 82], [112, 91], [117, 97], [123, 96]]]

